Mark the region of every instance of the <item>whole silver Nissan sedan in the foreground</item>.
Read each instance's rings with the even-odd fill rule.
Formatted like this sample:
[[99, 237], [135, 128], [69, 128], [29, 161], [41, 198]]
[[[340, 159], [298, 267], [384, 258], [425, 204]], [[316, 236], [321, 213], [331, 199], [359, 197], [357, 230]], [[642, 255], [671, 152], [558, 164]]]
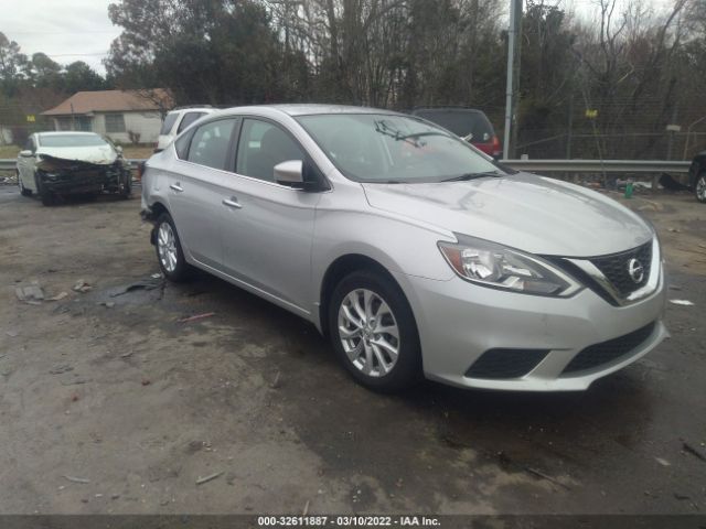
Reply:
[[146, 164], [162, 272], [303, 317], [363, 385], [582, 390], [666, 335], [654, 229], [417, 117], [223, 110]]

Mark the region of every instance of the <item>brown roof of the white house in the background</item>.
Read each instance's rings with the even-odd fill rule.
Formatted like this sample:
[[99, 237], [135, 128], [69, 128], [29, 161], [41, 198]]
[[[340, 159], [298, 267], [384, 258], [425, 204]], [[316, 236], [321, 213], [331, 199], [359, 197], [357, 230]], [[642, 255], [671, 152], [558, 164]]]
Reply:
[[[89, 112], [117, 112], [129, 110], [159, 110], [157, 101], [171, 107], [172, 99], [163, 88], [149, 90], [77, 91], [42, 116], [67, 116]], [[72, 110], [73, 106], [73, 110]]]

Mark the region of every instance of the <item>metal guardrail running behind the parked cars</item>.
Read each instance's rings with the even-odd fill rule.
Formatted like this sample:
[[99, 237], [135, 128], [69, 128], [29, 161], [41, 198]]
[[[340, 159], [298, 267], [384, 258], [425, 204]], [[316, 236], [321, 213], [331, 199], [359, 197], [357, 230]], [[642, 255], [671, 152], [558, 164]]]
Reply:
[[[128, 160], [132, 168], [145, 160]], [[0, 160], [0, 171], [14, 170], [17, 160]], [[538, 173], [688, 173], [691, 162], [660, 160], [501, 160], [517, 171]]]

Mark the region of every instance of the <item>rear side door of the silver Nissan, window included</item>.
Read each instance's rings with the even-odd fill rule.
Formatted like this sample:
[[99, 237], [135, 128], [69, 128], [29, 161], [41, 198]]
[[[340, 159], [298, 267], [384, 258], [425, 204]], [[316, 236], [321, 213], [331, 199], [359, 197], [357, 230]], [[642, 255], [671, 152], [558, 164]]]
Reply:
[[208, 121], [176, 140], [176, 158], [169, 172], [169, 204], [182, 247], [206, 267], [221, 269], [223, 248], [218, 215], [227, 194], [225, 171], [233, 159], [237, 118]]

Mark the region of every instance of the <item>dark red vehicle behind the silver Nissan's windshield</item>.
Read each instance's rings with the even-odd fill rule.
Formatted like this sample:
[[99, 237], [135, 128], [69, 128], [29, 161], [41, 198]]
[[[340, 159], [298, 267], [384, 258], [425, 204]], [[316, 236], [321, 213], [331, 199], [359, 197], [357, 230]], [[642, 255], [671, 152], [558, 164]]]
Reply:
[[411, 115], [450, 130], [490, 156], [499, 159], [503, 153], [500, 138], [495, 134], [493, 125], [482, 110], [462, 107], [432, 107], [417, 108], [413, 110]]

